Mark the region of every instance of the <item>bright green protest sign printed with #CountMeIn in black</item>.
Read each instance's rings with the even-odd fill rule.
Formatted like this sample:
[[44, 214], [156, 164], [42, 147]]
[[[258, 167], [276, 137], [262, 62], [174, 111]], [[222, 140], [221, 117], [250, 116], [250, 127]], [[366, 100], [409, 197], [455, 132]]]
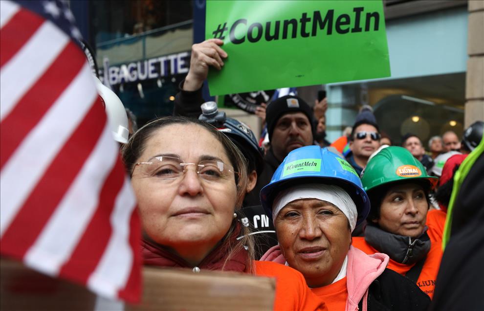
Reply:
[[211, 95], [390, 76], [382, 1], [207, 1]]

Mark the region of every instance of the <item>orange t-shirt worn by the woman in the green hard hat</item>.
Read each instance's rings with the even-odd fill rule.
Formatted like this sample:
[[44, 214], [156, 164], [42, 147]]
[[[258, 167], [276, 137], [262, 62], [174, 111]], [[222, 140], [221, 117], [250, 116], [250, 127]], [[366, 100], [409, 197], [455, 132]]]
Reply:
[[[417, 286], [432, 299], [434, 296], [435, 280], [437, 279], [437, 273], [439, 272], [440, 260], [442, 259], [442, 249], [440, 243], [430, 241], [430, 250], [423, 264], [422, 271], [417, 279]], [[373, 248], [370, 244], [366, 243], [364, 237], [352, 238], [352, 245], [361, 249], [365, 253], [372, 255], [374, 253], [380, 253], [380, 251]], [[401, 275], [405, 275], [415, 264], [405, 265], [397, 263], [390, 258], [387, 268], [398, 272]]]

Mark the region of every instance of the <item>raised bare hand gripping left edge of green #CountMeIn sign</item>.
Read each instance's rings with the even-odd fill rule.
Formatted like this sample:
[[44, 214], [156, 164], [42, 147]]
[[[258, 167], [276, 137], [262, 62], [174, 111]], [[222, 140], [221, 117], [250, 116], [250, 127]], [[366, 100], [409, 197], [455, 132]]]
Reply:
[[199, 44], [192, 45], [192, 56], [190, 58], [190, 70], [188, 70], [183, 89], [195, 91], [200, 89], [203, 81], [207, 78], [208, 68], [215, 67], [217, 70], [222, 68], [223, 60], [227, 58], [227, 53], [220, 48], [223, 41], [220, 39], [209, 39]]

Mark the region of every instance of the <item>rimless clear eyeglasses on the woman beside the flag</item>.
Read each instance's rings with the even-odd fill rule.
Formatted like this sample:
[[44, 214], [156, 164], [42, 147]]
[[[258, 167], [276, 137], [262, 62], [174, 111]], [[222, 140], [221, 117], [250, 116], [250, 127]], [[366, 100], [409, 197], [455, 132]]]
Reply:
[[[233, 168], [220, 160], [203, 160], [197, 163], [180, 163], [180, 159], [173, 156], [154, 156], [148, 162], [134, 164], [142, 167], [142, 174], [148, 177], [163, 179], [166, 181], [181, 180], [188, 166], [197, 167], [198, 177], [209, 182], [221, 182], [230, 179], [232, 174], [238, 176]], [[131, 174], [132, 174], [131, 173]]]

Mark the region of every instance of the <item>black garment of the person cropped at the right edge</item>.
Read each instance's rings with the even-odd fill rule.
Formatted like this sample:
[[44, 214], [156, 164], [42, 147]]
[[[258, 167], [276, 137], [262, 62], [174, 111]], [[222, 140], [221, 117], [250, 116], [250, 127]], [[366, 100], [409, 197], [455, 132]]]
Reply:
[[440, 263], [432, 311], [484, 310], [484, 153], [462, 182]]

